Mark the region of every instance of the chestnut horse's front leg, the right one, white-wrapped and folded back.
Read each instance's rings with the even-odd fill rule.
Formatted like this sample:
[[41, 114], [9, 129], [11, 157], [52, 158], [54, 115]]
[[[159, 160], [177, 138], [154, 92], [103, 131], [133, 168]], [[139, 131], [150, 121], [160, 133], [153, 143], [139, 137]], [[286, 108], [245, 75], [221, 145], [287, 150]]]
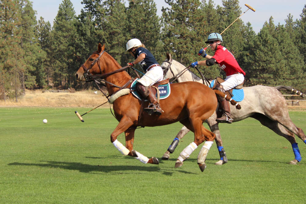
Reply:
[[125, 131], [125, 146], [129, 150], [129, 156], [134, 157], [141, 161], [142, 163], [146, 164], [159, 164], [159, 161], [156, 157], [147, 158], [146, 156], [140, 154], [136, 150], [133, 149], [133, 143], [134, 143], [134, 135], [135, 135], [135, 128], [130, 128]]

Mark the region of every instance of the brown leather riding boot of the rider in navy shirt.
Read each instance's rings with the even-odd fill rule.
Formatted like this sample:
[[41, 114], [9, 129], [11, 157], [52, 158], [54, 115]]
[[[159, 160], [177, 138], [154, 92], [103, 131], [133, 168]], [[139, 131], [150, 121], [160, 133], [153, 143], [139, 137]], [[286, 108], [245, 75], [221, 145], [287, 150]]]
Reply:
[[142, 95], [142, 97], [146, 98], [150, 102], [149, 106], [147, 108], [144, 108], [144, 111], [146, 111], [149, 115], [152, 115], [154, 113], [156, 115], [161, 115], [162, 112], [164, 112], [155, 97], [155, 93], [153, 93], [151, 89], [145, 87], [141, 83], [136, 83], [136, 89]]

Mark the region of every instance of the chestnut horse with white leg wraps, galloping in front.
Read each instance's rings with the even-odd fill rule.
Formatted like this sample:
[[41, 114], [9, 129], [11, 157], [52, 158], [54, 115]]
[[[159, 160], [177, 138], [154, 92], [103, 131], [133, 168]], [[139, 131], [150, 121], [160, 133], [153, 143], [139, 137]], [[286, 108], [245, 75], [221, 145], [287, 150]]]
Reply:
[[[76, 78], [85, 81], [88, 77], [104, 78], [110, 95], [119, 93], [118, 90], [130, 88], [131, 76], [121, 68], [119, 63], [110, 54], [104, 51], [105, 46], [99, 43], [98, 51], [91, 54], [86, 62], [76, 72]], [[206, 167], [205, 159], [215, 134], [203, 126], [203, 121], [209, 118], [217, 108], [216, 93], [225, 97], [225, 94], [211, 90], [198, 82], [183, 82], [171, 84], [171, 94], [160, 100], [164, 110], [161, 115], [148, 115], [142, 110], [142, 101], [128, 92], [113, 102], [114, 115], [119, 124], [110, 135], [110, 141], [121, 154], [132, 156], [143, 163], [159, 164], [157, 158], [147, 158], [133, 150], [134, 132], [137, 126], [160, 126], [180, 122], [194, 132], [194, 142], [190, 143], [177, 158], [175, 167], [183, 165], [183, 161], [205, 141], [198, 156], [198, 165], [203, 171]], [[216, 93], [215, 93], [216, 92]], [[227, 98], [229, 100], [230, 98]], [[148, 106], [148, 102], [143, 102]], [[234, 102], [236, 103], [236, 102]], [[141, 124], [141, 125], [140, 125]], [[117, 140], [118, 135], [125, 132], [125, 146]]]

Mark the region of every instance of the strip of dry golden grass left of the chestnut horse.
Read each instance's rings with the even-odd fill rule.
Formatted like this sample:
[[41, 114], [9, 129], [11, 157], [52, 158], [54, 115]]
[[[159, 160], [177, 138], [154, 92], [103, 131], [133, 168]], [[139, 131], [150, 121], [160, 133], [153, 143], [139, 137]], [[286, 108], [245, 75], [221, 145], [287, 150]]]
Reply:
[[[15, 101], [11, 98], [4, 102], [0, 101], [0, 106], [45, 106], [45, 107], [96, 107], [106, 102], [106, 97], [97, 91], [92, 90], [71, 92], [50, 92], [43, 90], [26, 90], [25, 96]], [[109, 103], [106, 103], [109, 107]]]

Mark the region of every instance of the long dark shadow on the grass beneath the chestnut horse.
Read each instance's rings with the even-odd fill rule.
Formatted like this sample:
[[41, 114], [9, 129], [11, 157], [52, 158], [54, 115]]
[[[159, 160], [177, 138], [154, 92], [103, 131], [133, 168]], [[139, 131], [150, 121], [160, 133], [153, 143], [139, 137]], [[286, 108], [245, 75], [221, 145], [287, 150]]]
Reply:
[[[162, 172], [162, 174], [166, 176], [172, 176], [173, 172], [181, 172], [186, 174], [194, 174], [192, 172], [181, 171], [181, 170], [173, 170], [172, 172], [160, 170], [159, 166], [131, 166], [131, 165], [89, 165], [82, 164], [79, 162], [65, 162], [65, 161], [40, 161], [47, 162], [47, 164], [35, 164], [35, 163], [20, 163], [13, 162], [8, 165], [20, 165], [20, 166], [39, 166], [39, 167], [47, 167], [47, 168], [61, 168], [67, 170], [78, 170], [79, 172], [84, 173], [114, 173], [114, 174], [123, 174], [122, 171], [147, 171], [147, 172]], [[151, 165], [151, 164], [147, 164]]]

